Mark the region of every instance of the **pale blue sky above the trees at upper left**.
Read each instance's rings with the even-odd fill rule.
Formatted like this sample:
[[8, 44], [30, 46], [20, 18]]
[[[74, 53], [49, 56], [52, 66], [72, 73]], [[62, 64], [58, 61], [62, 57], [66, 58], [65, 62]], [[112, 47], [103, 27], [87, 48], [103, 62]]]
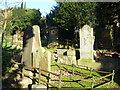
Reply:
[[5, 8], [5, 1], [7, 1], [8, 7], [20, 6], [20, 2], [26, 2], [26, 8], [40, 9], [42, 16], [48, 14], [52, 7], [56, 5], [55, 0], [0, 0], [0, 8]]

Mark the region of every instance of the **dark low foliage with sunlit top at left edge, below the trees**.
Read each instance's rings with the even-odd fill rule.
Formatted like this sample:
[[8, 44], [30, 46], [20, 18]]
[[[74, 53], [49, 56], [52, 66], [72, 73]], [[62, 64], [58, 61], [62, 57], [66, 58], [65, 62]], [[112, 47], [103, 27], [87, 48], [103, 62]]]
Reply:
[[12, 46], [10, 42], [4, 39], [2, 47], [2, 73], [3, 75], [8, 72], [11, 68], [11, 62], [16, 61], [20, 62], [21, 59], [18, 56], [21, 56], [20, 50], [17, 50]]

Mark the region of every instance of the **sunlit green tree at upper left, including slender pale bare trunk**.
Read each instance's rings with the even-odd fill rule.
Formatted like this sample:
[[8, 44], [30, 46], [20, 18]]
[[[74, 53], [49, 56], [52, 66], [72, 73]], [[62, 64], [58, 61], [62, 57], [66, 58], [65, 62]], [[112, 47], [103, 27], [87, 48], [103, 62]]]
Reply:
[[41, 13], [36, 9], [26, 9], [23, 2], [21, 7], [10, 8], [5, 2], [5, 10], [1, 10], [2, 13], [2, 42], [5, 34], [15, 34], [17, 30], [23, 31], [27, 25], [39, 25]]

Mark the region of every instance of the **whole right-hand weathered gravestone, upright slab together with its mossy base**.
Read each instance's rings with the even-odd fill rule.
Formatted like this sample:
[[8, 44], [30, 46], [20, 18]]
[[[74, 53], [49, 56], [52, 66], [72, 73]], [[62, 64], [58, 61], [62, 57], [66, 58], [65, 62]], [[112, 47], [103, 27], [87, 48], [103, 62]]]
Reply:
[[93, 64], [96, 65], [93, 57], [93, 46], [94, 36], [93, 28], [88, 25], [84, 25], [79, 32], [80, 35], [80, 59], [78, 65], [84, 65], [87, 67], [94, 68]]

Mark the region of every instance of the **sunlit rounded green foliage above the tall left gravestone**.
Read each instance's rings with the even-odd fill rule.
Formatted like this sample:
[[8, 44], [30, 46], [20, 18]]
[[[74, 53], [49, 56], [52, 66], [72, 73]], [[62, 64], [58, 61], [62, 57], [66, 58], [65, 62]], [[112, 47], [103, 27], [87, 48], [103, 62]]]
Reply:
[[14, 8], [6, 33], [15, 34], [17, 30], [23, 31], [28, 25], [40, 25], [41, 13], [36, 9]]

